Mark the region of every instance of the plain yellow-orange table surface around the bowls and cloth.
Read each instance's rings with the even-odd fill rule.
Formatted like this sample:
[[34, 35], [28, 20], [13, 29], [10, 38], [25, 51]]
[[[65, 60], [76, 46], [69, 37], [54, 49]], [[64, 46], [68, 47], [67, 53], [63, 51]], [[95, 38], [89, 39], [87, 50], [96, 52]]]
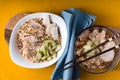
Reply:
[[[44, 69], [26, 69], [14, 64], [4, 39], [7, 21], [21, 12], [52, 12], [79, 8], [97, 16], [95, 24], [120, 28], [120, 0], [0, 0], [0, 80], [50, 80], [55, 65]], [[105, 74], [81, 71], [80, 80], [120, 80], [120, 65]]]

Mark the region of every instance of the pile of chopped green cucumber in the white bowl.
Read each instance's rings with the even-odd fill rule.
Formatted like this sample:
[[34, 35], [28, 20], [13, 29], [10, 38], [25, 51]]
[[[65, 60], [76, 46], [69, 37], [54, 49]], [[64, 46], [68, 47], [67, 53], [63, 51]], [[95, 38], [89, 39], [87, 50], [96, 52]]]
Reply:
[[61, 45], [57, 44], [54, 40], [45, 40], [37, 52], [38, 59], [50, 61], [57, 57], [57, 51], [61, 49]]

